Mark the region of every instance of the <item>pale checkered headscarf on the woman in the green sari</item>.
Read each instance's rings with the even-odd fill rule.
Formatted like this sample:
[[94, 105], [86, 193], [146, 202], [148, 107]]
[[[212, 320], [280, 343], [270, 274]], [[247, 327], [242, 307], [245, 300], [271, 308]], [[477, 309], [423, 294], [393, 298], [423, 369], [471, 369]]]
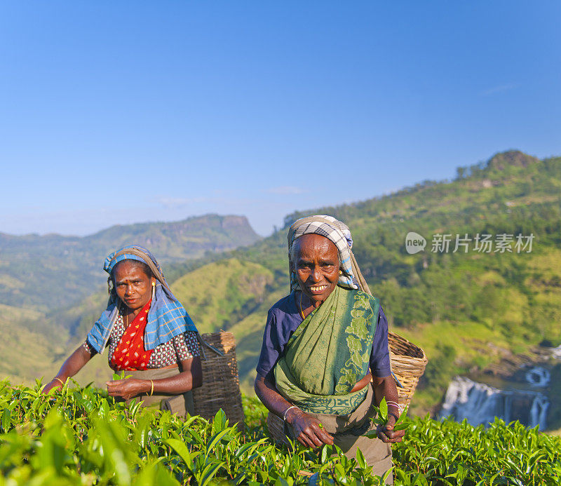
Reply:
[[351, 289], [360, 288], [370, 293], [370, 289], [362, 274], [360, 274], [356, 259], [351, 250], [353, 247], [351, 230], [343, 222], [327, 215], [303, 217], [292, 223], [290, 229], [288, 229], [288, 271], [290, 273], [291, 290], [299, 289], [299, 283], [292, 265], [292, 245], [297, 238], [305, 234], [325, 236], [337, 247], [337, 252], [339, 252], [339, 269], [342, 271], [342, 274], [339, 276], [339, 285]]

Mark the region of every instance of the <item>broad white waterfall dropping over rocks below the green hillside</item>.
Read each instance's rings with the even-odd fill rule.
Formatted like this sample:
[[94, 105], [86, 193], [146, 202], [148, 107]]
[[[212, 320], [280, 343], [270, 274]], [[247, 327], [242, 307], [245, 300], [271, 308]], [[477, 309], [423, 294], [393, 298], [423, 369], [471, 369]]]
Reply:
[[466, 377], [455, 377], [446, 391], [440, 417], [452, 415], [455, 420], [477, 426], [494, 421], [518, 420], [526, 426], [546, 427], [548, 398], [536, 391], [501, 390]]

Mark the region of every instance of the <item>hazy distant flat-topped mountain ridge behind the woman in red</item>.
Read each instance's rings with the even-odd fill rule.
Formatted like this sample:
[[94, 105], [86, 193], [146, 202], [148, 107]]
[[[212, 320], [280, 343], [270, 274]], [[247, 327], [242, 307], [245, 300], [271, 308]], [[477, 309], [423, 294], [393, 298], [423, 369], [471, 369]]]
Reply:
[[118, 225], [81, 238], [0, 233], [0, 303], [48, 311], [78, 302], [104, 283], [104, 258], [123, 245], [143, 245], [170, 264], [258, 240], [245, 217], [219, 215]]

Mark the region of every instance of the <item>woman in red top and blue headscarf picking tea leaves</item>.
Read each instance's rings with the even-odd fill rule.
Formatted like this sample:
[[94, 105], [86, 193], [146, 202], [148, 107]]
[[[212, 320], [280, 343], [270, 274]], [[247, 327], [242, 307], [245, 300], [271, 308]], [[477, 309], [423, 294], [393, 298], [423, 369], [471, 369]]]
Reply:
[[109, 366], [131, 375], [107, 382], [109, 396], [140, 397], [144, 406], [192, 414], [190, 391], [202, 384], [198, 332], [158, 262], [133, 245], [109, 255], [104, 270], [109, 274], [107, 309], [43, 391], [60, 388], [109, 346]]

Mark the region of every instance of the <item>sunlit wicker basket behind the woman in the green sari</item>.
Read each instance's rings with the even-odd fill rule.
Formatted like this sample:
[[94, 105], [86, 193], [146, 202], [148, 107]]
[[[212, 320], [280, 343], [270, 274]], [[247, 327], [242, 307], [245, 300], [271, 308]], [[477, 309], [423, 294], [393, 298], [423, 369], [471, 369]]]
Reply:
[[405, 337], [388, 332], [391, 371], [396, 378], [399, 402], [409, 405], [428, 360], [424, 351]]

